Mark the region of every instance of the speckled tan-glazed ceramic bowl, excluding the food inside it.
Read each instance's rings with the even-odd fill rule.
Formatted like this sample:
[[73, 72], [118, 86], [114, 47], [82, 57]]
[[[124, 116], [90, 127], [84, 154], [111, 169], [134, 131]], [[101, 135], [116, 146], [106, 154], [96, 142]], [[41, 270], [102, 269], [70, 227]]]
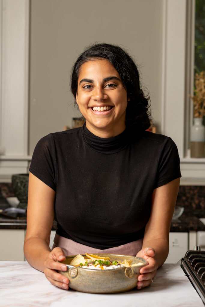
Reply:
[[[69, 288], [88, 293], [116, 293], [129, 291], [136, 287], [137, 278], [141, 267], [146, 266], [148, 262], [142, 258], [114, 255], [114, 254], [97, 254], [101, 257], [109, 257], [111, 260], [124, 261], [132, 260], [132, 264], [141, 262], [142, 264], [134, 267], [120, 267], [112, 270], [93, 270], [69, 265], [71, 260], [76, 256], [67, 256], [64, 263], [67, 271], [58, 271], [69, 279]], [[86, 257], [86, 255], [83, 255]]]

